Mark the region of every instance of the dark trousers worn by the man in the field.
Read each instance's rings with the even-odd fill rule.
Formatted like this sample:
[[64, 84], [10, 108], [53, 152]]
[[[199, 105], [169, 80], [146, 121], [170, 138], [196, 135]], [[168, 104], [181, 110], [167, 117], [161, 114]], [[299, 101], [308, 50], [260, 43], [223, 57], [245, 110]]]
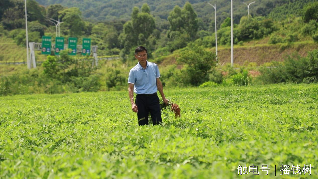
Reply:
[[149, 112], [151, 115], [153, 125], [161, 124], [162, 119], [160, 112], [160, 103], [157, 93], [151, 96], [137, 94], [135, 103], [138, 107], [137, 117], [139, 126], [149, 124]]

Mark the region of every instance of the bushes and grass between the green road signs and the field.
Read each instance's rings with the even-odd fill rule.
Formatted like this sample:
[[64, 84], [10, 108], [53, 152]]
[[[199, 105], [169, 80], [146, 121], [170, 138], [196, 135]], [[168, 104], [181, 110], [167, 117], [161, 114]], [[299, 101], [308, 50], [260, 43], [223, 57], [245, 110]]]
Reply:
[[0, 77], [0, 95], [31, 93], [76, 93], [100, 90], [100, 74], [92, 67], [92, 58], [75, 59], [68, 51], [60, 57], [47, 56], [42, 70], [23, 70]]

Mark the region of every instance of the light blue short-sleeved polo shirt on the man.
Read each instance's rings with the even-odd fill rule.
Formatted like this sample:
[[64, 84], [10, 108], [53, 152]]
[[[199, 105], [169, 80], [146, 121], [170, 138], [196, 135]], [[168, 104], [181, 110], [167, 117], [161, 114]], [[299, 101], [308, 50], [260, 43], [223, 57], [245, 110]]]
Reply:
[[144, 69], [138, 62], [129, 72], [128, 83], [134, 84], [136, 94], [152, 94], [157, 92], [156, 78], [160, 78], [157, 64], [147, 61]]

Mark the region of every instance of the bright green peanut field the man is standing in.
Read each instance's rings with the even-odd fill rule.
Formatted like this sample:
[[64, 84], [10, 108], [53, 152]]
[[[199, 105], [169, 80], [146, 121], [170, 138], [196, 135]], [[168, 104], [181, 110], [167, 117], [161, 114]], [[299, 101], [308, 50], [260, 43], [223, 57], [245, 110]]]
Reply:
[[138, 126], [128, 91], [0, 97], [0, 178], [318, 178], [317, 84], [164, 92], [181, 118], [162, 126]]

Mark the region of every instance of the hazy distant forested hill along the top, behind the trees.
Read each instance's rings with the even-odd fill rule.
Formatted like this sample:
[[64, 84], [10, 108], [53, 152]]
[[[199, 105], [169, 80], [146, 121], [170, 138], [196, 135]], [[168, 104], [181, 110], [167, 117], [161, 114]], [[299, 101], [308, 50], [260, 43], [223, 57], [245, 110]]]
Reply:
[[[178, 5], [182, 7], [186, 0], [37, 0], [42, 5], [50, 5], [60, 3], [66, 7], [78, 7], [85, 19], [94, 21], [112, 21], [112, 20], [128, 20], [134, 6], [141, 7], [143, 3], [147, 3], [151, 13], [157, 20], [167, 20], [169, 12]], [[310, 0], [256, 0], [249, 8], [252, 16], [267, 16], [275, 7], [295, 2], [306, 3]], [[201, 17], [203, 22], [210, 22], [214, 14], [212, 6], [208, 5], [206, 0], [189, 0], [193, 8]], [[229, 17], [230, 1], [229, 0], [209, 0], [211, 4], [216, 4], [217, 16], [220, 20]], [[245, 1], [246, 3], [252, 2]], [[301, 4], [301, 3], [300, 3]], [[246, 15], [247, 7], [240, 1], [233, 1], [233, 18], [235, 23], [239, 23], [239, 19]], [[288, 12], [287, 12], [288, 13]], [[210, 19], [210, 20], [209, 20]], [[213, 21], [214, 22], [214, 21]]]

